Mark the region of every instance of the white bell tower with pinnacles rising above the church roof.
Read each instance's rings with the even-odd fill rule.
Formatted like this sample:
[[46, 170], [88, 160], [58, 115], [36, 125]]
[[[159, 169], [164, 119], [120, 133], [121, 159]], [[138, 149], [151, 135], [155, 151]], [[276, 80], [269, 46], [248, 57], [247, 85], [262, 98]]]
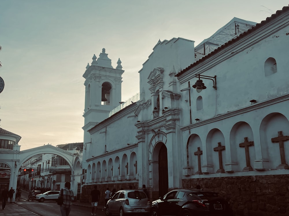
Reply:
[[120, 59], [117, 61], [116, 68], [112, 67], [111, 59], [105, 53], [105, 48], [102, 49], [98, 59], [94, 54], [91, 65], [87, 64], [83, 74], [85, 78], [83, 115], [85, 142], [87, 130], [108, 118], [110, 111], [120, 105], [123, 72]]

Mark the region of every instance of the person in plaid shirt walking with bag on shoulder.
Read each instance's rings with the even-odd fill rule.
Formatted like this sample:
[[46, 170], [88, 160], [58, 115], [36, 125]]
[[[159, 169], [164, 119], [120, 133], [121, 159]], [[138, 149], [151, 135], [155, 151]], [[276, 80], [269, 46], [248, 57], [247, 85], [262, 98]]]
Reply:
[[63, 196], [63, 204], [60, 205], [60, 212], [62, 216], [68, 216], [71, 210], [71, 201], [74, 200], [73, 191], [70, 190], [70, 182], [66, 181], [64, 188], [61, 189], [59, 196]]

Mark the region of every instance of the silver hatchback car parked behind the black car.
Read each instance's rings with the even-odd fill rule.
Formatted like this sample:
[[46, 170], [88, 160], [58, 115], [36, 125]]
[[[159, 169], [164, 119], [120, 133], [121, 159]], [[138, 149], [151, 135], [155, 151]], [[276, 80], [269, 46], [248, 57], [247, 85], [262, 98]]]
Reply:
[[105, 215], [149, 215], [151, 201], [142, 190], [120, 190], [108, 200]]

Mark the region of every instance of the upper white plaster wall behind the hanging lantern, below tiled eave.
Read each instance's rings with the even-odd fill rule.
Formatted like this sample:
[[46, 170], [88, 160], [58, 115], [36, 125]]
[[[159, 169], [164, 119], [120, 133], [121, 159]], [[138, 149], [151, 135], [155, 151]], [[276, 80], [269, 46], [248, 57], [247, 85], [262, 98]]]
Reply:
[[[192, 119], [205, 120], [218, 114], [227, 113], [251, 105], [250, 100], [255, 99], [257, 103], [275, 98], [289, 92], [288, 85], [288, 33], [289, 27], [277, 31], [273, 35], [253, 44], [249, 48], [239, 52], [231, 58], [222, 62], [213, 62], [208, 59], [202, 62], [193, 72], [190, 79], [181, 84], [181, 89], [187, 88], [187, 82], [191, 84]], [[282, 51], [287, 50], [285, 53]], [[234, 51], [234, 50], [232, 50]], [[228, 51], [230, 52], [230, 50]], [[277, 73], [265, 77], [264, 63], [267, 58], [273, 57], [277, 62]], [[208, 68], [207, 65], [217, 63], [216, 66]], [[208, 68], [208, 69], [207, 69]], [[202, 79], [207, 89], [197, 93], [192, 85], [197, 81], [194, 74], [201, 73], [206, 76], [216, 75], [217, 90], [212, 86], [213, 82]], [[181, 93], [182, 98], [188, 98], [188, 91]], [[198, 96], [203, 98], [203, 109], [196, 109]], [[182, 100], [182, 103], [184, 101]], [[186, 107], [186, 104], [184, 105]], [[187, 109], [184, 111], [188, 112]], [[183, 125], [188, 124], [183, 113]], [[194, 122], [194, 121], [193, 121]]]

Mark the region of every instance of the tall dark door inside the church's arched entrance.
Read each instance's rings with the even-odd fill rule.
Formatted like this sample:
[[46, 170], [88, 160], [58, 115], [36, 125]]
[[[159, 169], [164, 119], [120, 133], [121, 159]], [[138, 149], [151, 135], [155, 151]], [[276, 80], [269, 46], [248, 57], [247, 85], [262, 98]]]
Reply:
[[168, 192], [168, 153], [166, 146], [162, 143], [159, 151], [159, 196]]

